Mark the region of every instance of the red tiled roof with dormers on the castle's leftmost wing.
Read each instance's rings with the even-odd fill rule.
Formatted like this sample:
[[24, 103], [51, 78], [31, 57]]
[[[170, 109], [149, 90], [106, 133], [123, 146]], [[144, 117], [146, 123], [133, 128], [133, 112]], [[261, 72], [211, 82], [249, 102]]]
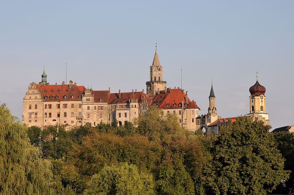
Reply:
[[[79, 86], [79, 87], [84, 88], [84, 86]], [[80, 99], [78, 99], [78, 96], [79, 95], [82, 96], [82, 94], [83, 94], [81, 92], [81, 90], [74, 84], [71, 85], [71, 89], [69, 88], [69, 85], [64, 85], [64, 87], [62, 87], [62, 85], [42, 85], [41, 90], [42, 90], [43, 98], [46, 95], [48, 96], [47, 100], [44, 99], [45, 102], [56, 101], [55, 100], [56, 95], [59, 96], [58, 101], [81, 101]], [[51, 92], [51, 91], [53, 91], [53, 92]], [[51, 95], [53, 96], [52, 100], [50, 100]], [[64, 95], [67, 95], [66, 100], [64, 100]], [[74, 95], [73, 100], [71, 99], [71, 95]]]

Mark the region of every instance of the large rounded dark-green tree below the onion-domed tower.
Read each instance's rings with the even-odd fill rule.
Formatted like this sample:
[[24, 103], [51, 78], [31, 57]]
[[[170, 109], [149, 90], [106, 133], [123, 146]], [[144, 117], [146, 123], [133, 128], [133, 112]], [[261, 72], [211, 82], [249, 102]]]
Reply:
[[270, 128], [241, 117], [220, 130], [205, 170], [213, 194], [266, 194], [288, 178]]

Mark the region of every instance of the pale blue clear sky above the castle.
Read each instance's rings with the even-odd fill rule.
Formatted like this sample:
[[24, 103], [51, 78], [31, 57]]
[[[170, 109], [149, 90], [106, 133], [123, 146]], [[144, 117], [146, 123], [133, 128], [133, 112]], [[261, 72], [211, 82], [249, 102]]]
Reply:
[[[273, 128], [294, 124], [294, 1], [0, 1], [0, 101], [21, 119], [29, 83], [146, 89], [155, 42], [168, 87], [207, 113], [213, 78], [221, 117], [249, 112], [266, 88]], [[68, 83], [67, 81], [67, 83]]]

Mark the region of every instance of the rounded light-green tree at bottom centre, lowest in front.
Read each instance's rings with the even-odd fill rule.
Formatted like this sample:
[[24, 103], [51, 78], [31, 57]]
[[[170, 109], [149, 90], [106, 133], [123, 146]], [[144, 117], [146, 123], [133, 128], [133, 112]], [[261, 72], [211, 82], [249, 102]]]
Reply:
[[154, 180], [151, 174], [139, 173], [132, 164], [105, 166], [101, 172], [92, 176], [84, 194], [152, 195], [155, 194]]

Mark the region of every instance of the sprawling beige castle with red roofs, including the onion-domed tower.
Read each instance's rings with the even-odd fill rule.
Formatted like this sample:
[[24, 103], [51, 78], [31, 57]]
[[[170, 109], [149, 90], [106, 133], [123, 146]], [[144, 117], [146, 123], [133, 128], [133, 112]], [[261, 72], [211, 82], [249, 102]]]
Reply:
[[[86, 89], [84, 86], [78, 86], [71, 80], [69, 85], [64, 81], [61, 85], [50, 85], [45, 70], [41, 77], [41, 82], [32, 82], [29, 85], [23, 100], [22, 123], [28, 126], [64, 124], [70, 128], [85, 125], [87, 122], [97, 126], [101, 121], [111, 123], [115, 119], [121, 126], [144, 115], [151, 105], [156, 105], [164, 113], [177, 115], [181, 126], [191, 131], [205, 129], [207, 132], [218, 134], [218, 129], [226, 121], [217, 114], [213, 85], [206, 115], [200, 114], [200, 108], [194, 100], [190, 100], [188, 91], [176, 87], [166, 88], [157, 50], [150, 66], [150, 80], [146, 82], [146, 93], [144, 89], [126, 93], [121, 93], [121, 90], [111, 93], [111, 88], [95, 91], [92, 87]], [[250, 115], [269, 124], [268, 114], [265, 112], [265, 88], [256, 81], [255, 85], [250, 87], [250, 93]]]

